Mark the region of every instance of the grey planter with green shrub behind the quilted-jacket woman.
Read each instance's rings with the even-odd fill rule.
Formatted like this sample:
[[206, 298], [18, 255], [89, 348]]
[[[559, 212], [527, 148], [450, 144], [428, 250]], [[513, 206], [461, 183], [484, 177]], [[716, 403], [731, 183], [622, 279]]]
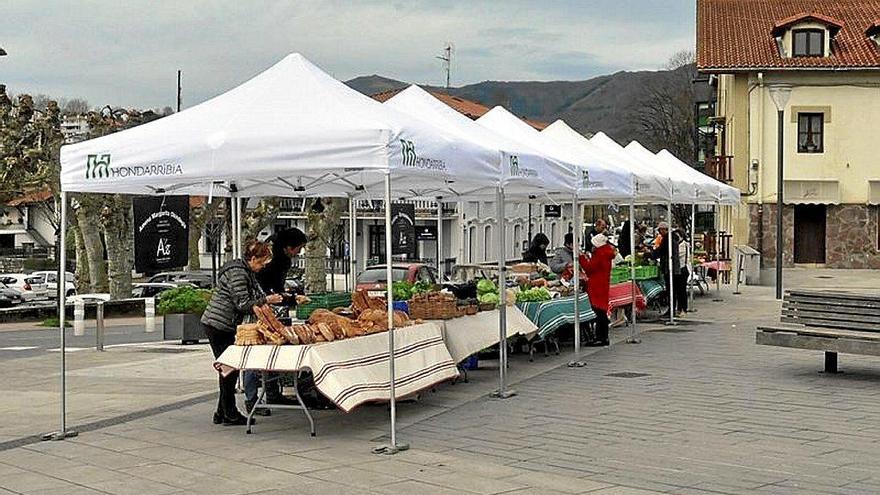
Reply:
[[182, 344], [207, 339], [199, 320], [210, 300], [211, 291], [195, 287], [177, 287], [161, 293], [156, 310], [163, 318], [163, 339], [180, 339]]

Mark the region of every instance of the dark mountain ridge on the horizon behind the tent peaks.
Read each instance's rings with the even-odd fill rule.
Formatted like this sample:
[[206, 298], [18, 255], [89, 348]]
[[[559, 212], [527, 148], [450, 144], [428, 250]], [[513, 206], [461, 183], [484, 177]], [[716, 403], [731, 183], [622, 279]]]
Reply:
[[[693, 70], [691, 65], [674, 71], [617, 72], [585, 81], [484, 81], [449, 90], [424, 87], [447, 91], [488, 107], [502, 105], [516, 115], [548, 124], [563, 119], [578, 132], [603, 131], [626, 145], [632, 140], [650, 141], [638, 120], [649, 88], [674, 84], [674, 80], [688, 77], [684, 71]], [[373, 95], [404, 88], [409, 83], [372, 75], [351, 79], [346, 84]]]

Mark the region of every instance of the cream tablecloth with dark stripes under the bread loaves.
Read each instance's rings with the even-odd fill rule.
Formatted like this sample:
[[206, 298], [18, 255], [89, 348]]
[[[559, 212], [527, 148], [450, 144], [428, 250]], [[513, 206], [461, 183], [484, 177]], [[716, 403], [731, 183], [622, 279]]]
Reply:
[[[398, 329], [394, 340], [397, 397], [458, 376], [436, 323]], [[345, 412], [391, 399], [387, 333], [304, 346], [230, 346], [214, 367], [221, 373], [311, 370], [317, 389]]]

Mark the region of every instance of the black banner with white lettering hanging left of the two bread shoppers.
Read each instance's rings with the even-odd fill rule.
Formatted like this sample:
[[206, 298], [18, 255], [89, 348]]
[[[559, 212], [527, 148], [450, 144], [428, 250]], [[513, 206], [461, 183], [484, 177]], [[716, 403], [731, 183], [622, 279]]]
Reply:
[[186, 266], [189, 196], [134, 198], [132, 207], [135, 271], [153, 273]]

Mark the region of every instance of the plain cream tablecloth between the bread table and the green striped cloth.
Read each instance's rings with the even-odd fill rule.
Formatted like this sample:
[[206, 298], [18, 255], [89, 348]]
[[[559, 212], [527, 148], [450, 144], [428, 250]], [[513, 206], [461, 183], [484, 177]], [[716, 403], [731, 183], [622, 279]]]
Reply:
[[[449, 354], [456, 363], [468, 356], [498, 343], [498, 310], [483, 311], [473, 316], [437, 321], [443, 325], [443, 338]], [[538, 327], [516, 306], [507, 307], [507, 337], [538, 332]]]

